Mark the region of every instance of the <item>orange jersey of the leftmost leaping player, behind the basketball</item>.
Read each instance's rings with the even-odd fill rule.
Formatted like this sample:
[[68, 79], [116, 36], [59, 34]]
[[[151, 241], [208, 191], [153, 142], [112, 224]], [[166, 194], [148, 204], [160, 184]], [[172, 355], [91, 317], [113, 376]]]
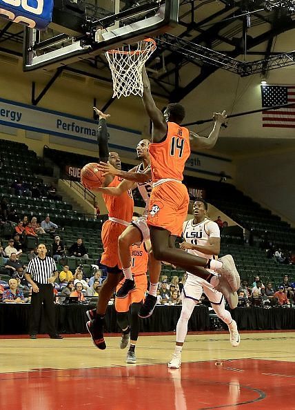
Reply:
[[[114, 177], [109, 186], [118, 186], [123, 179], [121, 177]], [[123, 221], [130, 222], [133, 215], [133, 197], [132, 191], [124, 192], [119, 197], [112, 197], [111, 195], [103, 194], [103, 200], [105, 206], [108, 208], [109, 217], [122, 219]]]

